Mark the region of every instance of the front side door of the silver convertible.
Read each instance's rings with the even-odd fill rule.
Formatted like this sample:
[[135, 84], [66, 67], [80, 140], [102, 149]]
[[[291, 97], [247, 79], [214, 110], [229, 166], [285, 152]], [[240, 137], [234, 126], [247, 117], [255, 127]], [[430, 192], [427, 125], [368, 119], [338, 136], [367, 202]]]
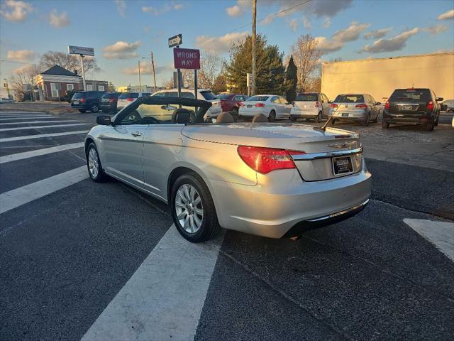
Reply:
[[141, 121], [140, 114], [134, 107], [125, 109], [115, 120], [114, 126], [100, 139], [106, 172], [143, 188], [143, 136], [148, 124]]

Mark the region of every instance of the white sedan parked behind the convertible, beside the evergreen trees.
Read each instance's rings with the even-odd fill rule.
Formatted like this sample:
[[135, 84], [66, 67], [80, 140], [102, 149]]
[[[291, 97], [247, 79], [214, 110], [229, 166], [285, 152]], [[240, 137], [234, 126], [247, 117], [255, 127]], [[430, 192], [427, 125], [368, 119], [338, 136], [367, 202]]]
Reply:
[[292, 107], [282, 96], [260, 94], [241, 102], [238, 114], [245, 119], [252, 119], [255, 114], [263, 114], [272, 122], [275, 119], [289, 119]]

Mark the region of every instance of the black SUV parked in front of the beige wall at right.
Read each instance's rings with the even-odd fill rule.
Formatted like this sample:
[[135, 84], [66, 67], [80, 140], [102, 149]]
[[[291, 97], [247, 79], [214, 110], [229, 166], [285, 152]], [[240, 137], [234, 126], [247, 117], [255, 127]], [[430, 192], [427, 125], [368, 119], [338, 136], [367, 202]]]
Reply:
[[396, 89], [384, 104], [382, 128], [395, 123], [416, 123], [425, 124], [428, 131], [433, 131], [438, 125], [441, 101], [443, 98], [436, 97], [430, 89]]

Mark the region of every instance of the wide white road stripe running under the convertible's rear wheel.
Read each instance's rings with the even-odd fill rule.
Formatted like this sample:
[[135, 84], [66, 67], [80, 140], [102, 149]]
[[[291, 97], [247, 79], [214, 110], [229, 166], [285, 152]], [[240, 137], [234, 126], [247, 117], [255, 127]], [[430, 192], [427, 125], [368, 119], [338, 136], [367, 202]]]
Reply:
[[192, 244], [172, 225], [82, 341], [193, 340], [222, 241]]

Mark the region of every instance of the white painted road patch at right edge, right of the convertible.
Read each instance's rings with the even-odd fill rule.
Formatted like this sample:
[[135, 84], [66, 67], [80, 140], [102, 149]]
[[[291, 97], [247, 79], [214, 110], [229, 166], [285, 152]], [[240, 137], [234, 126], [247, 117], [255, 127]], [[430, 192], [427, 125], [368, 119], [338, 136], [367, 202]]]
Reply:
[[423, 219], [404, 219], [404, 223], [409, 225], [416, 232], [421, 234], [432, 244], [435, 244], [443, 254], [454, 261], [454, 223], [436, 222]]

